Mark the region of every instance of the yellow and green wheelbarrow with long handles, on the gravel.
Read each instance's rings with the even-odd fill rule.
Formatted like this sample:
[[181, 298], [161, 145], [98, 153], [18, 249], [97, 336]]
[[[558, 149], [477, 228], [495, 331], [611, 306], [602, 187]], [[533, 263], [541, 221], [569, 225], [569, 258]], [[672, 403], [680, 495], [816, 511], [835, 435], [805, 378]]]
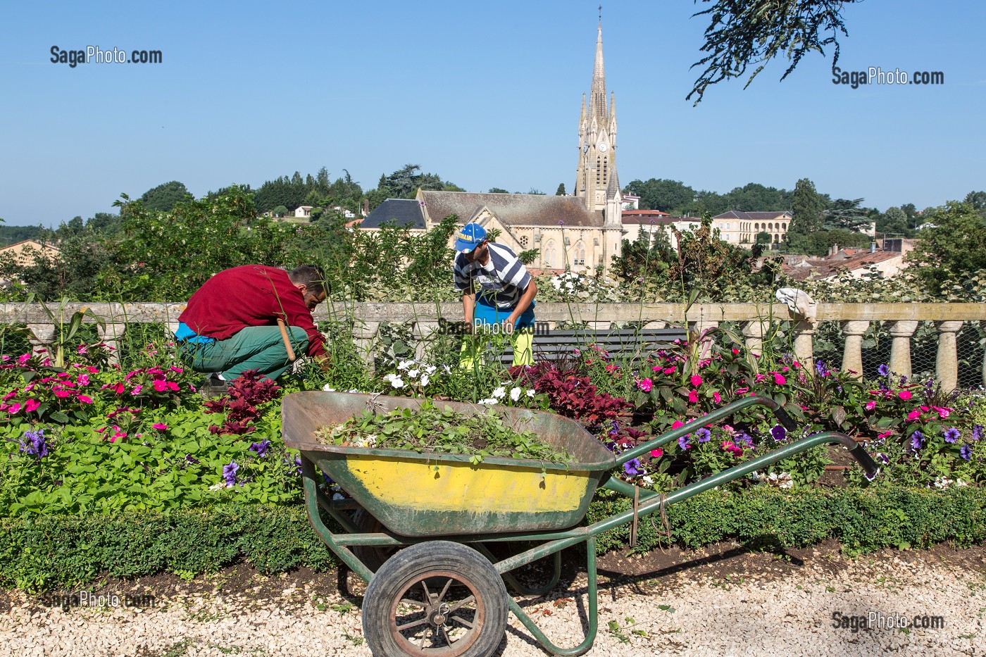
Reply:
[[[600, 533], [765, 468], [816, 445], [841, 444], [868, 479], [877, 465], [862, 445], [842, 433], [821, 432], [785, 445], [667, 494], [638, 488], [612, 475], [632, 459], [721, 421], [742, 408], [763, 405], [781, 425], [795, 423], [776, 401], [746, 397], [656, 438], [614, 454], [579, 423], [549, 412], [504, 407], [505, 421], [535, 432], [572, 455], [567, 464], [411, 450], [339, 447], [317, 442], [315, 431], [339, 424], [368, 407], [380, 412], [416, 408], [421, 400], [348, 393], [301, 392], [284, 398], [282, 432], [287, 447], [301, 452], [309, 521], [322, 541], [368, 587], [363, 630], [375, 655], [485, 657], [503, 639], [508, 611], [553, 655], [582, 655], [598, 630], [596, 538]], [[448, 402], [467, 414], [484, 406]], [[350, 498], [331, 499], [319, 488], [331, 477]], [[632, 508], [579, 527], [597, 488], [626, 495]], [[341, 495], [335, 496], [341, 497]], [[342, 528], [332, 531], [323, 510]], [[523, 542], [523, 543], [522, 543]], [[502, 556], [503, 544], [522, 551]], [[586, 544], [589, 627], [574, 647], [552, 643], [507, 593], [544, 595], [561, 575], [561, 550]], [[528, 547], [531, 544], [533, 547]], [[499, 551], [501, 555], [495, 552]], [[516, 551], [516, 550], [515, 550]], [[552, 557], [552, 574], [528, 588], [513, 571]]]

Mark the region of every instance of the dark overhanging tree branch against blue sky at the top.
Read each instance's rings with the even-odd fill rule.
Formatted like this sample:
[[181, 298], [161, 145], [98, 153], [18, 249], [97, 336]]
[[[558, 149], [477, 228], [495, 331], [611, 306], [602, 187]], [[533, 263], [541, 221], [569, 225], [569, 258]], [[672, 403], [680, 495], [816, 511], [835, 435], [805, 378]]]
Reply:
[[[713, 0], [702, 0], [712, 2]], [[787, 56], [790, 65], [781, 76], [784, 80], [806, 54], [824, 54], [824, 46], [834, 45], [832, 66], [839, 61], [838, 33], [847, 35], [842, 19], [843, 5], [858, 0], [715, 0], [715, 3], [694, 16], [709, 17], [705, 30], [705, 57], [692, 64], [704, 66], [691, 92], [685, 97], [701, 103], [710, 85], [736, 78], [746, 73], [746, 67], [758, 64], [746, 80], [743, 89], [763, 70], [767, 62], [779, 54]]]

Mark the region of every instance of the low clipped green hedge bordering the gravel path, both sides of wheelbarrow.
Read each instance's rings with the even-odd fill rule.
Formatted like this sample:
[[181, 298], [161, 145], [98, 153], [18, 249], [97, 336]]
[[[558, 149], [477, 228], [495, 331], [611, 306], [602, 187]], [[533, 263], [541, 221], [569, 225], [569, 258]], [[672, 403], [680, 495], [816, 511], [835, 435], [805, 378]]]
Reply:
[[[625, 498], [595, 500], [593, 522], [628, 507]], [[756, 487], [713, 490], [668, 508], [671, 538], [684, 547], [737, 540], [748, 547], [805, 547], [836, 539], [851, 552], [986, 541], [986, 490], [782, 492]], [[654, 518], [660, 527], [660, 519]], [[629, 526], [599, 537], [599, 551], [624, 547]], [[637, 548], [658, 546], [649, 519]], [[170, 571], [214, 572], [241, 558], [260, 572], [337, 563], [311, 528], [304, 508], [225, 505], [171, 514], [40, 516], [0, 523], [0, 586], [35, 592], [69, 588], [100, 576], [137, 577]]]

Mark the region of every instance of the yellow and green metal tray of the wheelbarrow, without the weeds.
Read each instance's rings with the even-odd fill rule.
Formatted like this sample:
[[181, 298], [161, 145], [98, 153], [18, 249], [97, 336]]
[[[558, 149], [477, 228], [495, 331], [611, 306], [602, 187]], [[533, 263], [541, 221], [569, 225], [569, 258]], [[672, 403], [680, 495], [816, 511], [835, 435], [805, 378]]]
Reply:
[[[527, 408], [499, 407], [504, 421], [572, 456], [569, 463], [324, 445], [315, 431], [370, 407], [417, 408], [422, 400], [303, 392], [284, 398], [284, 443], [299, 450], [394, 534], [442, 537], [533, 532], [578, 525], [599, 481], [616, 467], [612, 452], [574, 420]], [[443, 402], [437, 402], [442, 405]], [[372, 405], [371, 405], [372, 404]], [[444, 402], [475, 414], [487, 407]]]

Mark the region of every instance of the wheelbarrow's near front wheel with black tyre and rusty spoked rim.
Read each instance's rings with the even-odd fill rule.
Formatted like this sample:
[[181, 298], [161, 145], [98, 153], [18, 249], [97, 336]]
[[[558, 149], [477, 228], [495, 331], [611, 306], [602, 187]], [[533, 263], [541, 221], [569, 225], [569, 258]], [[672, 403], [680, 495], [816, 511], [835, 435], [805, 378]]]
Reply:
[[363, 597], [363, 631], [375, 655], [487, 657], [507, 627], [507, 589], [476, 550], [448, 541], [405, 547]]

